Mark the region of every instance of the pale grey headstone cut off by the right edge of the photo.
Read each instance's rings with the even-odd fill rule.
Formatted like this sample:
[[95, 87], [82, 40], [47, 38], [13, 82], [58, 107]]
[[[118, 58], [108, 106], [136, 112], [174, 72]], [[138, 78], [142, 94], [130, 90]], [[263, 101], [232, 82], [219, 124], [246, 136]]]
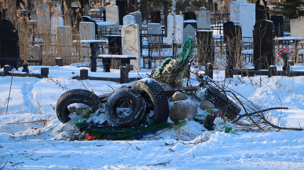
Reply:
[[290, 37], [304, 38], [304, 17], [290, 20]]

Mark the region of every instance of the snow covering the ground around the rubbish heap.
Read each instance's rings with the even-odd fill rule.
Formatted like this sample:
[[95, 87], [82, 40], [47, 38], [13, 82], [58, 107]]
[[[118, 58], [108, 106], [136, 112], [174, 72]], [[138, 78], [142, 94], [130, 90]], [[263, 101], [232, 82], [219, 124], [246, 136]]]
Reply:
[[[188, 121], [182, 130], [159, 131], [134, 141], [75, 141], [81, 135], [68, 122], [57, 119], [59, 96], [67, 90], [87, 88], [96, 94], [122, 86], [108, 81], [72, 80], [85, 67], [49, 67], [49, 78], [0, 77], [0, 169], [303, 169], [304, 132], [245, 132], [237, 134], [207, 131]], [[30, 66], [40, 73], [41, 66]], [[85, 68], [88, 69], [88, 68]], [[21, 70], [21, 68], [19, 69]], [[292, 70], [304, 71], [303, 65]], [[3, 71], [3, 69], [1, 70]], [[119, 70], [94, 77], [119, 77]], [[139, 75], [146, 78], [150, 70]], [[14, 73], [17, 73], [14, 70]], [[129, 77], [137, 77], [131, 71]], [[224, 71], [214, 71], [214, 80], [225, 84], [264, 107], [288, 107], [281, 123], [301, 128], [304, 124], [304, 76], [254, 76], [224, 80]], [[11, 83], [12, 81], [12, 83]], [[134, 82], [133, 82], [134, 83]], [[198, 82], [192, 82], [198, 85]], [[9, 97], [10, 96], [10, 97]], [[8, 105], [8, 107], [7, 107]], [[276, 114], [280, 110], [273, 110]], [[71, 136], [74, 129], [75, 136]], [[194, 135], [194, 136], [193, 136]], [[196, 136], [196, 137], [195, 137]]]

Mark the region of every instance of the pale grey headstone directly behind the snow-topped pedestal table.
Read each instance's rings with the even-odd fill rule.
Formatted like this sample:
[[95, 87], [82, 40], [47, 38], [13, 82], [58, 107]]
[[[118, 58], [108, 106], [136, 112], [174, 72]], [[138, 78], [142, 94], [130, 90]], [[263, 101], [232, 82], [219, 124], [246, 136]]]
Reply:
[[[79, 23], [79, 39], [80, 40], [95, 40], [95, 24], [94, 22], [80, 22]], [[90, 56], [90, 45], [81, 44], [80, 56]]]

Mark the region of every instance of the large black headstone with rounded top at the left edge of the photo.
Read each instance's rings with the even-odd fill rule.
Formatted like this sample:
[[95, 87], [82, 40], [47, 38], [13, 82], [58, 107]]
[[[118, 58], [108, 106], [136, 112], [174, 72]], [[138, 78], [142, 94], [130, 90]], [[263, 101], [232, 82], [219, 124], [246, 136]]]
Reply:
[[16, 68], [19, 63], [18, 30], [8, 19], [0, 20], [0, 66]]

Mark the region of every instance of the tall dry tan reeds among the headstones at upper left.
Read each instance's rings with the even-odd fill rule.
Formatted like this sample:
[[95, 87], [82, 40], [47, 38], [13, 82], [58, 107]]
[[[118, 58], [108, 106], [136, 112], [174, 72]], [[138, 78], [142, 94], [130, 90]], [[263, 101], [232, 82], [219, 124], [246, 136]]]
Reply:
[[[37, 2], [37, 6], [42, 5], [42, 3], [42, 1]], [[55, 66], [55, 59], [57, 57], [61, 57], [63, 59], [64, 65], [69, 65], [74, 62], [89, 61], [89, 57], [78, 56], [80, 52], [80, 44], [77, 42], [79, 41], [79, 36], [74, 36], [75, 34], [79, 34], [79, 31], [74, 26], [76, 21], [64, 19], [64, 26], [70, 26], [69, 28], [64, 28], [67, 32], [60, 31], [59, 29], [59, 31], [53, 31], [57, 34], [52, 34], [50, 24], [52, 17], [60, 16], [63, 18], [71, 18], [73, 15], [73, 11], [70, 8], [67, 8], [65, 2], [63, 15], [59, 15], [58, 9], [50, 6], [49, 9], [45, 9], [49, 12], [41, 12], [41, 9], [37, 9], [36, 24], [30, 24], [30, 18], [28, 16], [24, 16], [21, 12], [21, 10], [29, 10], [27, 0], [25, 0], [25, 5], [20, 5], [19, 9], [16, 9], [15, 1], [0, 0], [0, 9], [4, 8], [9, 9], [6, 16], [13, 23], [16, 29], [19, 30], [19, 48], [20, 58], [22, 60], [39, 60], [42, 58], [43, 65], [49, 66]], [[31, 16], [33, 16], [33, 12]], [[32, 41], [33, 38], [42, 39], [43, 42]], [[30, 55], [29, 53], [26, 53], [27, 49], [33, 47], [34, 44], [38, 44], [41, 47], [41, 50], [43, 51], [42, 54]], [[87, 56], [89, 56], [89, 54]]]

